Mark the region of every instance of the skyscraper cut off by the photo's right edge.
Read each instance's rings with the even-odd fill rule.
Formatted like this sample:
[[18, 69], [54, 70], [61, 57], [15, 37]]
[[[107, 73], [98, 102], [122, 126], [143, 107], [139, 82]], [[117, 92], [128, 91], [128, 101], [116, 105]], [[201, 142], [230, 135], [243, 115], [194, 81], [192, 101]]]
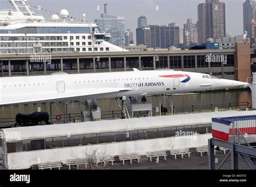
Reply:
[[246, 0], [243, 4], [244, 10], [244, 32], [248, 38], [254, 38], [254, 26], [256, 18], [256, 3], [253, 0]]

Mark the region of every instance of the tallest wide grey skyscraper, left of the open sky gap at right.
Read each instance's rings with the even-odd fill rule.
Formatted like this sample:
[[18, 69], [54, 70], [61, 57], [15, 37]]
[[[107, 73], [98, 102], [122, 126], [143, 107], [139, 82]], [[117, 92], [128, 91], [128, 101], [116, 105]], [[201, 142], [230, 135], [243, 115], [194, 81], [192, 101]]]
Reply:
[[225, 3], [219, 0], [206, 0], [198, 5], [199, 43], [208, 38], [218, 39], [226, 36]]

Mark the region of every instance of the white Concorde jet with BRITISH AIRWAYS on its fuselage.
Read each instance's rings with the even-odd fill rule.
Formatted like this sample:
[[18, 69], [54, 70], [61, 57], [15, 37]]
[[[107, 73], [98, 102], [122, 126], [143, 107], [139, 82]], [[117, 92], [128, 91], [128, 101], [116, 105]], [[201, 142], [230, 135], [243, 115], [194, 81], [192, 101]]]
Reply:
[[0, 105], [150, 96], [246, 86], [208, 74], [161, 69], [0, 78]]

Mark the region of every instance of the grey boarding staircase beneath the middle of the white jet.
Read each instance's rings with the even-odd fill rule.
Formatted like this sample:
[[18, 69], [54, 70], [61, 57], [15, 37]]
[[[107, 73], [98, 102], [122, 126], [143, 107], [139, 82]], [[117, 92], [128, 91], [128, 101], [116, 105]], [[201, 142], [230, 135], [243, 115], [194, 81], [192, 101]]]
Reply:
[[86, 110], [82, 111], [83, 121], [96, 121], [101, 119], [101, 110], [98, 107], [96, 99], [79, 100], [86, 106]]

